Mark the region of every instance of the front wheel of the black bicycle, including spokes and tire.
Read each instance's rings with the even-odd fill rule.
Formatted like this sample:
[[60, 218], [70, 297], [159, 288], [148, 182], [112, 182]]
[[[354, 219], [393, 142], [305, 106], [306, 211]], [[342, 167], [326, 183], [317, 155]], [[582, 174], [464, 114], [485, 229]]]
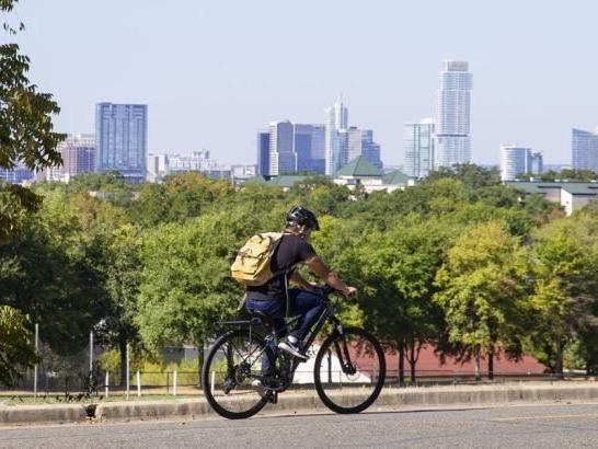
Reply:
[[380, 394], [386, 372], [380, 343], [367, 331], [347, 327], [322, 343], [313, 368], [315, 391], [333, 412], [359, 413]]

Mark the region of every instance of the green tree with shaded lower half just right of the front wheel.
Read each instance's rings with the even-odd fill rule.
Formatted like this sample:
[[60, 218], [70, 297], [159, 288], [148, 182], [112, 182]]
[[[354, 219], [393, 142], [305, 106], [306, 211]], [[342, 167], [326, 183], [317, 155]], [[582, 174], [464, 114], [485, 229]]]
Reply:
[[446, 241], [434, 221], [411, 216], [359, 245], [366, 322], [399, 353], [401, 383], [404, 356], [414, 382], [419, 350], [438, 334], [441, 313], [430, 299]]

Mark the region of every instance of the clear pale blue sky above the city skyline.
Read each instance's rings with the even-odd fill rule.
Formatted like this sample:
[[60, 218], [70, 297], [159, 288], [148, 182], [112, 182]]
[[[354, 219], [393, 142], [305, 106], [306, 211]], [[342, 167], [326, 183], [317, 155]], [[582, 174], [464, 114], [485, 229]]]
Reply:
[[15, 19], [61, 131], [93, 131], [97, 102], [145, 103], [150, 151], [253, 163], [257, 129], [322, 123], [343, 92], [399, 164], [445, 58], [473, 72], [475, 162], [518, 142], [568, 163], [571, 128], [598, 125], [597, 16], [591, 0], [21, 0]]

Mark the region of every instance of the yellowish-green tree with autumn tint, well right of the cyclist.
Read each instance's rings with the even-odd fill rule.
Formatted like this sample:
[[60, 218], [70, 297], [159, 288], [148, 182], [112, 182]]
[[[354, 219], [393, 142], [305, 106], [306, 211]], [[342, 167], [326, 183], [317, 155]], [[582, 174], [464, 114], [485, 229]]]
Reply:
[[484, 355], [492, 376], [498, 345], [513, 356], [520, 354], [517, 324], [526, 306], [526, 273], [518, 240], [496, 221], [462, 234], [438, 270], [434, 301], [445, 311], [449, 341], [473, 357], [476, 378]]

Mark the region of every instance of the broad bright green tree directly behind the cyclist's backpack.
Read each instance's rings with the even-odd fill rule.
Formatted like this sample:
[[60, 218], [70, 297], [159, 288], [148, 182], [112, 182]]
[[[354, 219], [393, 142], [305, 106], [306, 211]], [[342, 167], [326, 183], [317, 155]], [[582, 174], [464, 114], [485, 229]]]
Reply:
[[[141, 249], [141, 285], [136, 323], [151, 348], [204, 344], [231, 316], [242, 293], [230, 264], [253, 233], [267, 229], [266, 212], [246, 209], [205, 214], [149, 231]], [[199, 364], [202, 366], [202, 362]]]

